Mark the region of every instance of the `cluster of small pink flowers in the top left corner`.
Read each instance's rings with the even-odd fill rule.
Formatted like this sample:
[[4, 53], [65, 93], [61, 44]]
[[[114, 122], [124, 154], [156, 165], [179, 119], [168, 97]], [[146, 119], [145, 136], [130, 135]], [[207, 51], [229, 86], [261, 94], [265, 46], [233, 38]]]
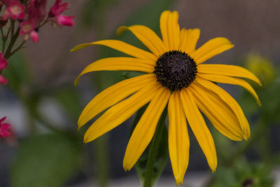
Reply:
[[20, 35], [27, 40], [29, 37], [32, 41], [38, 42], [38, 29], [45, 25], [46, 22], [51, 22], [52, 25], [73, 27], [73, 16], [62, 15], [69, 6], [68, 3], [62, 4], [62, 0], [56, 0], [55, 4], [50, 8], [48, 17], [45, 18], [46, 0], [29, 0], [27, 5], [22, 4], [20, 0], [0, 0], [1, 6], [6, 6], [6, 11], [1, 21], [6, 21], [9, 18], [20, 22]]

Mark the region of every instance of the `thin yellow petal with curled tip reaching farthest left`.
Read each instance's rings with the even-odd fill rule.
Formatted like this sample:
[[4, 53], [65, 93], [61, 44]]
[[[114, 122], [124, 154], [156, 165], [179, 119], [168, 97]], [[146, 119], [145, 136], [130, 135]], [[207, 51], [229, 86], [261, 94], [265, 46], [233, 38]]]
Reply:
[[83, 44], [80, 44], [80, 45], [76, 46], [75, 48], [73, 48], [71, 50], [71, 52], [80, 50], [80, 49], [83, 49], [85, 47], [92, 46], [92, 45], [107, 46], [109, 48], [119, 50], [132, 57], [153, 60], [155, 62], [158, 60], [158, 57], [156, 57], [152, 53], [148, 53], [146, 50], [141, 50], [128, 43], [125, 43], [123, 41], [118, 41], [118, 40], [102, 40], [102, 41], [94, 41], [92, 43], [83, 43]]

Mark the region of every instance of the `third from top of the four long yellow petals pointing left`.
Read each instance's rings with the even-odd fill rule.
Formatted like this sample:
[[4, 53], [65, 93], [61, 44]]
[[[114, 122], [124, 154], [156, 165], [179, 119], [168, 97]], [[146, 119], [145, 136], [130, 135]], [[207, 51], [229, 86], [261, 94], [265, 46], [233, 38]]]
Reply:
[[103, 90], [95, 96], [87, 106], [85, 106], [85, 109], [83, 109], [83, 112], [78, 118], [78, 128], [85, 125], [90, 119], [97, 116], [98, 113], [120, 102], [141, 88], [144, 88], [144, 86], [148, 86], [155, 82], [155, 74], [146, 74], [134, 78], [128, 78], [125, 81], [116, 83], [106, 90]]

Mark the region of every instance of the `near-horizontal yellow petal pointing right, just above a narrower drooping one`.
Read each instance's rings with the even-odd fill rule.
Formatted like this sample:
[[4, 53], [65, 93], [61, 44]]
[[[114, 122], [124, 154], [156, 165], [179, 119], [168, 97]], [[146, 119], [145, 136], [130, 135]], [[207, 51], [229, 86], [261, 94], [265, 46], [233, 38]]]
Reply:
[[255, 83], [262, 85], [260, 80], [243, 67], [238, 67], [234, 65], [225, 65], [225, 64], [199, 64], [197, 66], [197, 71], [201, 74], [215, 74], [221, 76], [237, 76], [241, 78], [249, 78]]

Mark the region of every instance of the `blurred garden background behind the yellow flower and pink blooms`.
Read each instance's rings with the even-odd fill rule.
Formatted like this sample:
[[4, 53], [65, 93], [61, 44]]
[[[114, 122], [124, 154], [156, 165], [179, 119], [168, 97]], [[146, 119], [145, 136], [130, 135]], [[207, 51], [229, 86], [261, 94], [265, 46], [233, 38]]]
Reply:
[[[133, 168], [123, 169], [123, 156], [134, 116], [89, 144], [77, 132], [80, 112], [109, 85], [134, 73], [94, 72], [73, 81], [102, 57], [123, 54], [102, 46], [70, 53], [80, 44], [118, 39], [146, 49], [130, 32], [116, 36], [121, 25], [146, 25], [160, 35], [160, 13], [179, 11], [179, 24], [200, 28], [197, 47], [223, 36], [235, 44], [207, 63], [246, 67], [260, 78], [253, 85], [262, 107], [244, 89], [221, 85], [237, 99], [251, 125], [251, 139], [234, 142], [207, 123], [218, 151], [212, 174], [190, 132], [190, 163], [183, 186], [280, 186], [280, 21], [278, 0], [80, 0], [70, 3], [74, 27], [40, 30], [40, 41], [9, 60], [0, 86], [0, 117], [13, 135], [0, 141], [0, 186], [141, 186]], [[54, 1], [48, 1], [50, 7]], [[48, 9], [47, 9], [48, 10]], [[93, 121], [93, 120], [92, 120]], [[92, 122], [91, 121], [91, 122]], [[169, 158], [156, 186], [176, 186]]]

